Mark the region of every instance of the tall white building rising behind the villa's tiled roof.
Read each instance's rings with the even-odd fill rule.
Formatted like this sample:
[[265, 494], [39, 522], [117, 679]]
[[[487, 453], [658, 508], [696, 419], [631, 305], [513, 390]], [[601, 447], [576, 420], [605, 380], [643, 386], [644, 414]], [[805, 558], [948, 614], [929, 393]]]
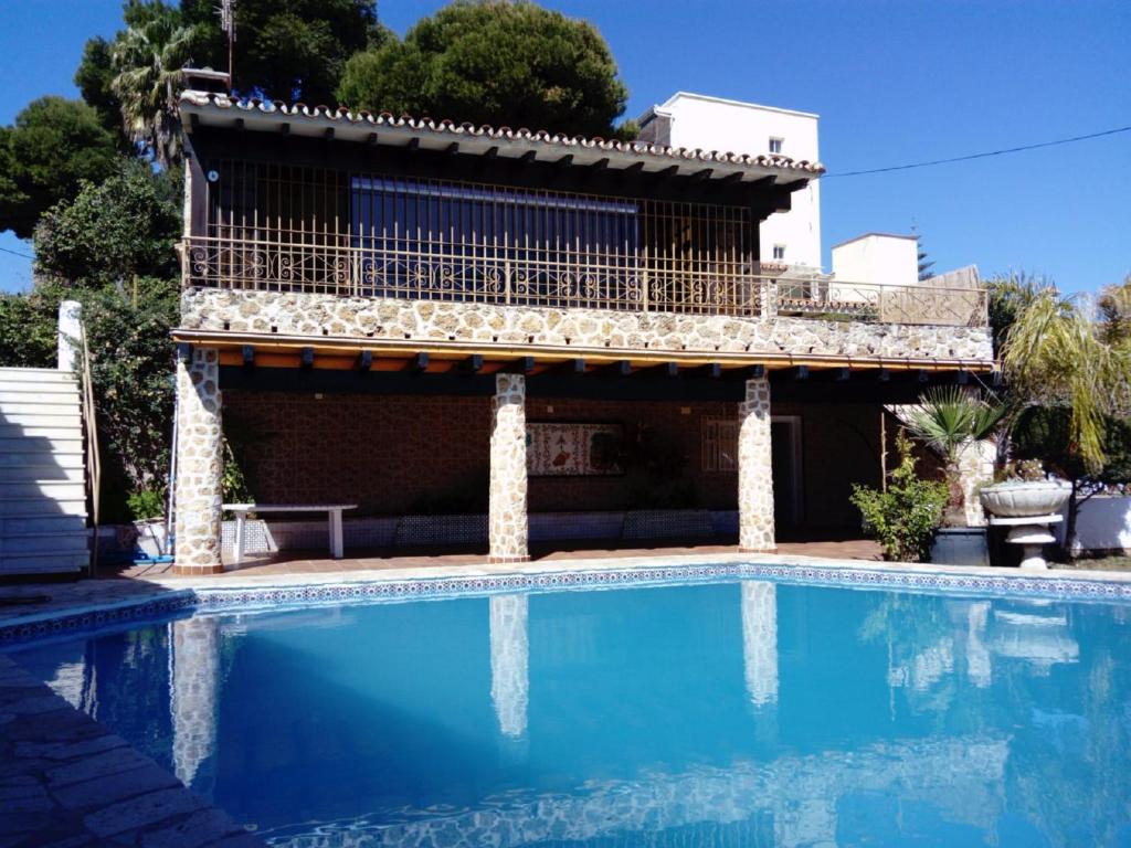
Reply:
[[[817, 115], [688, 92], [676, 92], [641, 115], [640, 138], [672, 147], [820, 161]], [[761, 225], [762, 262], [821, 267], [820, 192], [820, 181], [811, 181], [793, 192], [789, 211]]]

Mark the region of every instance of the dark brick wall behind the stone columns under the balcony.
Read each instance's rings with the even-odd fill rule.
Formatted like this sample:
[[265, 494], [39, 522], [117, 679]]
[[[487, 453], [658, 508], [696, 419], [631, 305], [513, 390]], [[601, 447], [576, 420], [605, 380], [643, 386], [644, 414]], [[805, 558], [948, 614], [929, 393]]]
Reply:
[[[245, 392], [225, 390], [224, 423], [242, 444], [252, 495], [274, 502], [352, 502], [356, 516], [485, 512], [490, 398]], [[733, 418], [736, 404], [533, 398], [528, 422], [618, 422], [650, 432], [687, 471], [703, 509], [737, 507], [737, 475], [703, 471], [705, 418]], [[804, 519], [858, 523], [853, 482], [879, 481], [879, 410], [870, 405], [775, 405], [802, 415]], [[639, 503], [647, 475], [532, 477], [532, 512], [621, 510]], [[656, 504], [666, 505], [666, 504]]]

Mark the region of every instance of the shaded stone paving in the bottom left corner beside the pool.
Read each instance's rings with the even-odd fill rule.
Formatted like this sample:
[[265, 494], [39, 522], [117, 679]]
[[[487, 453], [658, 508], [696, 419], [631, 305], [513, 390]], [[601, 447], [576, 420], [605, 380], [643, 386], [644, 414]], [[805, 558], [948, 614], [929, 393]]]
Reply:
[[0, 847], [262, 848], [0, 655]]

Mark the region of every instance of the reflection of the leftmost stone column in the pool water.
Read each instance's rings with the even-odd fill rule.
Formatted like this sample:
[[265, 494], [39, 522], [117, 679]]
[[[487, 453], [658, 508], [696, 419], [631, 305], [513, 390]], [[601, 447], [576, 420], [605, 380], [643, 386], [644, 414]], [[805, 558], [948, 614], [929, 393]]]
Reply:
[[170, 624], [173, 771], [190, 788], [200, 768], [216, 753], [218, 621], [205, 616]]

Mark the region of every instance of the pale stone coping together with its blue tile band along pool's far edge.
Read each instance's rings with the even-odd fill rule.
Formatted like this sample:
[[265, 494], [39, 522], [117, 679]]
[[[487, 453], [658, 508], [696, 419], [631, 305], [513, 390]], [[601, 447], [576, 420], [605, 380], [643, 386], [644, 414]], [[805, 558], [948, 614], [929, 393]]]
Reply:
[[[596, 588], [688, 579], [772, 579], [789, 583], [910, 591], [1017, 595], [1063, 600], [1131, 600], [1131, 572], [968, 568], [771, 554], [673, 554], [562, 559], [504, 565], [431, 565], [314, 574], [120, 578], [132, 597], [76, 598], [26, 615], [0, 612], [0, 647], [184, 609], [411, 599], [530, 589]], [[89, 581], [88, 581], [89, 582]], [[103, 581], [97, 581], [102, 583]], [[109, 581], [106, 581], [109, 582]], [[5, 614], [7, 613], [7, 614]]]

